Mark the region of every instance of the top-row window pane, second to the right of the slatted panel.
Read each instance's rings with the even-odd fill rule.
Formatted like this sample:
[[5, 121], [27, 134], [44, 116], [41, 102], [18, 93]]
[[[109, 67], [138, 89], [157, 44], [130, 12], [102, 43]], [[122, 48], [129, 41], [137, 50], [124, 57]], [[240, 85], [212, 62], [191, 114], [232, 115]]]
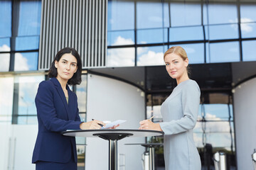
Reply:
[[161, 1], [137, 1], [136, 7], [137, 29], [163, 27]]

